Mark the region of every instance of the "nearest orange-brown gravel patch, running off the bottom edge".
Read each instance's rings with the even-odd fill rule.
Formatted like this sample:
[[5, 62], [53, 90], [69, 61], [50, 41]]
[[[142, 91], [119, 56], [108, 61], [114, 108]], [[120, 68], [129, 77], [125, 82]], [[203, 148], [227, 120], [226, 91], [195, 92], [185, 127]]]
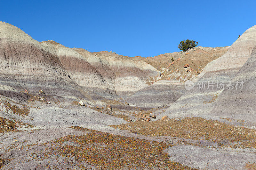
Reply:
[[[112, 135], [78, 126], [72, 128], [87, 133], [55, 140], [57, 149], [54, 148], [50, 153], [72, 157], [80, 163], [85, 162], [98, 169], [193, 169], [169, 160], [170, 156], [162, 152], [171, 146], [169, 144]], [[65, 142], [76, 143], [77, 146], [65, 145]]]

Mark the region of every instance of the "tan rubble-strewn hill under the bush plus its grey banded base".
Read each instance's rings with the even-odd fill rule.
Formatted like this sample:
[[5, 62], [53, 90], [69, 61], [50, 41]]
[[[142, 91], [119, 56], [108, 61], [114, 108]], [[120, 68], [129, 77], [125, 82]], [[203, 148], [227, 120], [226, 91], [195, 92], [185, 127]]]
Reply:
[[[227, 52], [227, 47], [195, 47], [187, 52], [161, 54], [156, 57], [133, 57], [135, 63], [147, 62], [161, 69], [158, 81], [143, 89], [140, 89], [125, 102], [146, 108], [158, 108], [169, 106], [184, 94], [185, 86], [182, 82], [196, 78], [205, 65]], [[171, 61], [174, 59], [174, 62]], [[139, 62], [138, 62], [139, 60]], [[184, 64], [188, 64], [184, 68]]]

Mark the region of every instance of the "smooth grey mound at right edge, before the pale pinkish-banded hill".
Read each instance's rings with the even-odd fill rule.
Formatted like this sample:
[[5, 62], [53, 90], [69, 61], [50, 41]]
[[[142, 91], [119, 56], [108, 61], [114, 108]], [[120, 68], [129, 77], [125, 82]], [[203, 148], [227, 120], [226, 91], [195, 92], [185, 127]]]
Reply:
[[[231, 80], [233, 88], [224, 89], [204, 112], [215, 117], [227, 117], [256, 123], [255, 84], [256, 46], [236, 76]], [[237, 86], [236, 86], [236, 83]], [[217, 107], [218, 106], [218, 107]]]

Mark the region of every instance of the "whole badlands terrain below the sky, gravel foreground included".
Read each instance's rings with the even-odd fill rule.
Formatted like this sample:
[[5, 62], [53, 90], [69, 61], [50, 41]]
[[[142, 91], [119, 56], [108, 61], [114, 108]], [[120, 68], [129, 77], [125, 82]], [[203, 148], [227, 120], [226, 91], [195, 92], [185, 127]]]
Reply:
[[256, 26], [232, 46], [144, 58], [0, 22], [0, 168], [253, 169], [255, 51]]

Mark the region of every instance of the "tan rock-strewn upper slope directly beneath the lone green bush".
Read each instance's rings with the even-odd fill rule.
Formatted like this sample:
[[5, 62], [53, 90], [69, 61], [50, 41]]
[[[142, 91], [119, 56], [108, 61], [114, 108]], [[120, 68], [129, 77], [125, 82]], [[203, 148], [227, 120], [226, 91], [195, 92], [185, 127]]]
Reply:
[[[198, 46], [186, 52], [165, 53], [155, 57], [147, 57], [144, 60], [148, 60], [152, 66], [161, 69], [160, 80], [173, 79], [183, 82], [195, 78], [209, 62], [225, 54], [229, 47]], [[188, 65], [188, 67], [184, 67], [184, 65]]]

